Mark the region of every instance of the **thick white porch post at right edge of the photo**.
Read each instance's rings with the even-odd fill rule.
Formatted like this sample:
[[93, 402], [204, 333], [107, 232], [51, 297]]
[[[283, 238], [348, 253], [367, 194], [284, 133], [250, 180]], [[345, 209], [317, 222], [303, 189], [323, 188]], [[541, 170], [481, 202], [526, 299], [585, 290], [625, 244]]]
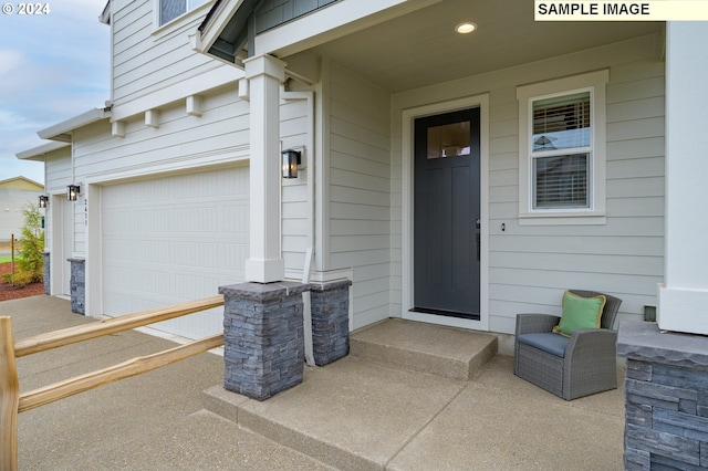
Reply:
[[668, 22], [666, 39], [666, 252], [658, 326], [708, 334], [708, 27]]

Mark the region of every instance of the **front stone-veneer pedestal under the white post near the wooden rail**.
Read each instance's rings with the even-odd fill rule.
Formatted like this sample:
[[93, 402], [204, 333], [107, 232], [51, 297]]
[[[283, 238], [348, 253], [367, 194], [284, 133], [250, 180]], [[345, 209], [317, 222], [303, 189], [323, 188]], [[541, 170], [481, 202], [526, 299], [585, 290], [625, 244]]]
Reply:
[[302, 293], [309, 289], [288, 281], [219, 287], [227, 390], [263, 400], [302, 383]]

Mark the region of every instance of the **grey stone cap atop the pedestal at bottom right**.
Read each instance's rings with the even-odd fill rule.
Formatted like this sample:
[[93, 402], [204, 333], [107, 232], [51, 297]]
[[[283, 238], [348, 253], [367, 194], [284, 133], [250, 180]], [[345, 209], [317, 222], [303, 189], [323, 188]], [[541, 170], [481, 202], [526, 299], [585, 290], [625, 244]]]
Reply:
[[708, 369], [708, 337], [662, 332], [655, 322], [622, 321], [617, 355], [639, 362]]

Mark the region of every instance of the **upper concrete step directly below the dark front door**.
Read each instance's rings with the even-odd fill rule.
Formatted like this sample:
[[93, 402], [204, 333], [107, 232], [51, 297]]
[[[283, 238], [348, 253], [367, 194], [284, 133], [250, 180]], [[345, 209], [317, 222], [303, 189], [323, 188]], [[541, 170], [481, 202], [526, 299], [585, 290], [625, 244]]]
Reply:
[[419, 373], [469, 380], [498, 350], [497, 337], [389, 318], [356, 331], [350, 355]]

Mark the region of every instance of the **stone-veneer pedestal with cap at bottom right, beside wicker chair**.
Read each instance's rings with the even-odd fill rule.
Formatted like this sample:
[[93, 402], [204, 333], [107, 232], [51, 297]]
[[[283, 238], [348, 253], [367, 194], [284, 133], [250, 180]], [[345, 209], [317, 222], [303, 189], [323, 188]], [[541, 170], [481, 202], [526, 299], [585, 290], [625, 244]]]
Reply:
[[708, 338], [622, 322], [626, 470], [708, 468]]

